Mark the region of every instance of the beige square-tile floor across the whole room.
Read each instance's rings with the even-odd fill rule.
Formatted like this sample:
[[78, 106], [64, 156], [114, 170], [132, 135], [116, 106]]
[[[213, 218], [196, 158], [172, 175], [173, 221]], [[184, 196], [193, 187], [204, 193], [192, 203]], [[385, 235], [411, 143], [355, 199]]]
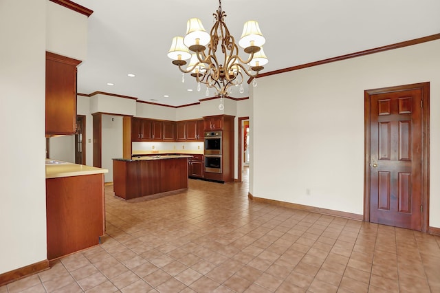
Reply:
[[123, 202], [102, 245], [5, 292], [440, 292], [440, 237], [252, 202], [248, 184]]

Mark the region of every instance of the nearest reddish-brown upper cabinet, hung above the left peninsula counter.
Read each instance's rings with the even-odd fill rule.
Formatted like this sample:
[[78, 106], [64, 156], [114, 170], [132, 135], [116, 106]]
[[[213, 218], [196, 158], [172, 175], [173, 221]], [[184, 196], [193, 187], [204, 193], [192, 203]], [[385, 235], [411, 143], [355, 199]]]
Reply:
[[46, 135], [76, 132], [76, 66], [80, 63], [46, 52]]

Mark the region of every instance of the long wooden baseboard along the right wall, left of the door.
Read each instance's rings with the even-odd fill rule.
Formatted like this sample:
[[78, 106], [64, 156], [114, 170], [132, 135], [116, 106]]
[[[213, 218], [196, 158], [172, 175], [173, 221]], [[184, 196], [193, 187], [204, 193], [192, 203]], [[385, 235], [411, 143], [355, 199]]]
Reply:
[[251, 193], [248, 193], [248, 197], [255, 202], [264, 202], [266, 204], [274, 204], [276, 206], [283, 206], [285, 208], [295, 208], [296, 210], [306, 210], [307, 212], [313, 212], [322, 215], [331, 215], [335, 217], [353, 219], [356, 221], [364, 221], [364, 215], [342, 212], [340, 210], [329, 210], [327, 208], [317, 208], [316, 206], [305, 206], [303, 204], [292, 204], [291, 202], [281, 202], [274, 199], [254, 197], [254, 195], [252, 195]]

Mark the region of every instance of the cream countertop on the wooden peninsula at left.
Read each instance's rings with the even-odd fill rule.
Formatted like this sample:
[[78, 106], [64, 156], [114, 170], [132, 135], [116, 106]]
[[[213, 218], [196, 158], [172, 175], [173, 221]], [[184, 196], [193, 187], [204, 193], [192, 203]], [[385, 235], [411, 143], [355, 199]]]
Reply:
[[109, 170], [92, 166], [46, 159], [46, 179], [108, 173]]

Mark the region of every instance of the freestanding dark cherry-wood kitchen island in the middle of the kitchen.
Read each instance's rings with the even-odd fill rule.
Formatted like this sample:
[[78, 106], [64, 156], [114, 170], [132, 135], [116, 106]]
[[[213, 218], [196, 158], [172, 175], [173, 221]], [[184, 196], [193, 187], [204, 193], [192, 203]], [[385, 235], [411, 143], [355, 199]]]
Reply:
[[190, 155], [113, 159], [113, 191], [123, 199], [188, 188]]

